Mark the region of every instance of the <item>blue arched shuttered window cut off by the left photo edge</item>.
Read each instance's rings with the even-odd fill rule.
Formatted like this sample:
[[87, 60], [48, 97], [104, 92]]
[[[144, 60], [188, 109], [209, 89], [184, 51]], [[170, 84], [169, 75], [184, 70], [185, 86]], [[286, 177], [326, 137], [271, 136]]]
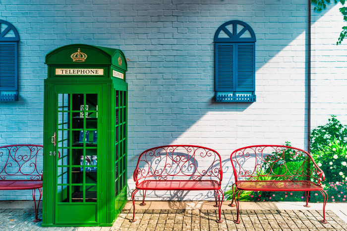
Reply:
[[18, 100], [18, 41], [16, 28], [0, 20], [0, 101]]

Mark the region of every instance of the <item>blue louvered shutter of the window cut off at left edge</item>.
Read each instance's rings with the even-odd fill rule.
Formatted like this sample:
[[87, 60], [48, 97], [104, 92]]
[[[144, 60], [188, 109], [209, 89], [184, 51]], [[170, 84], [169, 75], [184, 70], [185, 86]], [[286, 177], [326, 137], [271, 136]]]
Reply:
[[0, 43], [0, 90], [17, 91], [17, 43]]

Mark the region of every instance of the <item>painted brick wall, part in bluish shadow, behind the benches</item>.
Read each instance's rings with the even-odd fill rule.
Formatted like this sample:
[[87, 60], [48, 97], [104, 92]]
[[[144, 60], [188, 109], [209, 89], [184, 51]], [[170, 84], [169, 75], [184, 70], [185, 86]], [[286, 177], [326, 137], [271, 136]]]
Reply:
[[[347, 50], [330, 46], [339, 29], [320, 33], [331, 28], [329, 21], [341, 20], [338, 9], [328, 7], [329, 13], [313, 13], [312, 20], [314, 125], [322, 124], [330, 113], [347, 120], [341, 104], [347, 98], [341, 88], [346, 86], [341, 77], [346, 76], [342, 68], [346, 56], [322, 59], [327, 44], [328, 54]], [[134, 187], [138, 155], [171, 143], [220, 152], [226, 186], [232, 181], [233, 149], [285, 141], [299, 148], [307, 145], [307, 9], [302, 0], [0, 0], [0, 19], [12, 23], [20, 36], [19, 101], [0, 103], [0, 144], [43, 143], [48, 52], [73, 43], [119, 48], [130, 60], [129, 189]], [[213, 37], [221, 24], [233, 19], [248, 23], [257, 37], [253, 104], [213, 100]], [[329, 69], [333, 63], [336, 68]], [[327, 77], [329, 71], [333, 79]], [[337, 86], [341, 96], [324, 100]], [[169, 192], [165, 196], [175, 198]], [[5, 199], [30, 200], [31, 192], [0, 191], [0, 200]], [[149, 193], [148, 199], [159, 198]], [[213, 195], [188, 193], [177, 199], [213, 199]]]

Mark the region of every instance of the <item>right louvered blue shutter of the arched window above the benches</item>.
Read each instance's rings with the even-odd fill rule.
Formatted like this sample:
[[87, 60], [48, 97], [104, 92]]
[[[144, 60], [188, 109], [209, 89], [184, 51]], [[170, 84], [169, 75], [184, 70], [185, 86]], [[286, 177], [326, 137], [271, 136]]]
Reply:
[[255, 60], [254, 60], [254, 44], [237, 44], [236, 60], [237, 60], [237, 83], [236, 91], [254, 91], [255, 80]]

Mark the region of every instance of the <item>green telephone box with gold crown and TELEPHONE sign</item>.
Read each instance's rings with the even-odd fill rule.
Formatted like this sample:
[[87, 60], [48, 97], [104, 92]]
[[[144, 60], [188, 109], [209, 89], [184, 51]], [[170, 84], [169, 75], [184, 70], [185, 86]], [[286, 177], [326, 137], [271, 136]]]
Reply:
[[42, 226], [112, 226], [127, 200], [124, 54], [73, 44], [46, 64]]

